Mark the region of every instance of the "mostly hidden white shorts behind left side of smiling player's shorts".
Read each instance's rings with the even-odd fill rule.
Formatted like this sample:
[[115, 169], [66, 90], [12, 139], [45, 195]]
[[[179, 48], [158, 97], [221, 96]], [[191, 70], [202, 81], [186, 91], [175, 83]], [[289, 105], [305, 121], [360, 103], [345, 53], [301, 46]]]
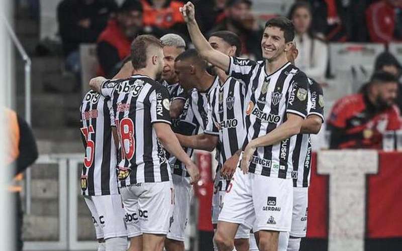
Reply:
[[[221, 179], [221, 172], [219, 171], [215, 176], [214, 181], [214, 194], [212, 195], [212, 224], [216, 227], [218, 224], [218, 217], [222, 210], [223, 198], [226, 194], [226, 188], [229, 186], [230, 181]], [[235, 239], [248, 239], [251, 228], [240, 224], [237, 229]]]

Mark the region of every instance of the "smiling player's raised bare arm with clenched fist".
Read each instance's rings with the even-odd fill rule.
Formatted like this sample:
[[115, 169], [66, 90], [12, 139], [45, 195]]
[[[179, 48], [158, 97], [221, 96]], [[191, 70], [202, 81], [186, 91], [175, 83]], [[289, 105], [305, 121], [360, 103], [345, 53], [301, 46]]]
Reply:
[[228, 72], [230, 66], [229, 56], [214, 50], [201, 33], [194, 17], [194, 5], [187, 2], [187, 4], [181, 8], [181, 14], [183, 15], [184, 21], [187, 23], [188, 33], [190, 34], [191, 41], [199, 55], [211, 64]]

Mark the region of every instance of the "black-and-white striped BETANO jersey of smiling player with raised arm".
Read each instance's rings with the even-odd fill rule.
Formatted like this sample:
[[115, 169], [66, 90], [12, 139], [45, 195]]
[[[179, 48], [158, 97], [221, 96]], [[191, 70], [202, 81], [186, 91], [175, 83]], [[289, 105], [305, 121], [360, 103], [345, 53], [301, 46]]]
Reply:
[[[309, 82], [306, 74], [289, 62], [272, 74], [265, 72], [265, 62], [231, 57], [229, 75], [244, 81], [246, 90], [246, 128], [248, 142], [270, 133], [286, 121], [286, 113], [307, 115]], [[290, 179], [296, 136], [278, 144], [259, 147], [249, 172]]]

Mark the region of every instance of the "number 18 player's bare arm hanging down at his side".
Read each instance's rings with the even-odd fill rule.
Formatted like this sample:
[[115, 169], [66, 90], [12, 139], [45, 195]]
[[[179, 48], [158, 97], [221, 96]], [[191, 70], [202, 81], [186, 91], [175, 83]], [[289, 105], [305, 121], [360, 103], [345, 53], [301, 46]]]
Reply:
[[191, 177], [191, 184], [199, 180], [199, 171], [197, 166], [191, 161], [187, 154], [181, 148], [179, 141], [175, 137], [170, 125], [167, 123], [154, 123], [153, 124], [156, 136], [162, 143], [163, 147], [172, 155], [184, 163], [188, 174]]

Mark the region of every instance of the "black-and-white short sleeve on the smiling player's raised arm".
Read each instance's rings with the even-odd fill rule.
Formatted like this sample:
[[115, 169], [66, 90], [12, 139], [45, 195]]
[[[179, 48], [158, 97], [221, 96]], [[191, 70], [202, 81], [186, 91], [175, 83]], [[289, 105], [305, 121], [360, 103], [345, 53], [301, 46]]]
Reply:
[[230, 57], [228, 75], [248, 83], [256, 65], [258, 63], [250, 59]]

